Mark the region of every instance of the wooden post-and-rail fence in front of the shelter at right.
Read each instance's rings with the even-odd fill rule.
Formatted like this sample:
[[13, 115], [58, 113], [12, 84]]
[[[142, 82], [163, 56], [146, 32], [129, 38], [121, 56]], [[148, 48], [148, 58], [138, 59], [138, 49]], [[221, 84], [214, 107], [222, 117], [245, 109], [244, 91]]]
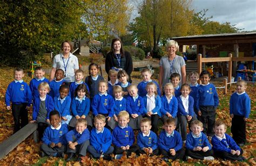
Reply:
[[[233, 61], [256, 61], [256, 57], [232, 57], [232, 54], [228, 54], [228, 57], [202, 57], [202, 54], [198, 54], [197, 62], [198, 62], [198, 73], [200, 74], [202, 71], [202, 63], [208, 62], [228, 62], [228, 76], [227, 79], [225, 78], [224, 83], [224, 91], [223, 93], [227, 93], [227, 86], [235, 83], [231, 82], [232, 77], [232, 62]], [[241, 78], [239, 78], [241, 79]]]

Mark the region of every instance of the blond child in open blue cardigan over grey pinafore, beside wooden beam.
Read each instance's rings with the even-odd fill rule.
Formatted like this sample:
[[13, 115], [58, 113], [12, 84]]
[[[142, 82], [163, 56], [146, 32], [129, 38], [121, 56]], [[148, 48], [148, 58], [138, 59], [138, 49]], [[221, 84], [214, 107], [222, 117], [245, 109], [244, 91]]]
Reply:
[[33, 99], [32, 121], [37, 122], [39, 140], [42, 139], [46, 127], [50, 125], [49, 114], [54, 110], [53, 99], [47, 93], [50, 91], [47, 82], [38, 85], [39, 96]]

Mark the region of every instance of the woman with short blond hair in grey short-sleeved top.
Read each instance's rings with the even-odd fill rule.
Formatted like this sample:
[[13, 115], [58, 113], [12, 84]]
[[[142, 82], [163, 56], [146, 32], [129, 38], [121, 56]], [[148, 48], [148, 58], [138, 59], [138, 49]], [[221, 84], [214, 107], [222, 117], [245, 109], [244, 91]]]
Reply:
[[170, 40], [166, 44], [167, 56], [160, 59], [160, 71], [159, 71], [159, 86], [170, 82], [169, 78], [172, 73], [178, 73], [181, 76], [180, 84], [186, 83], [186, 63], [182, 56], [176, 55], [178, 49], [178, 42]]

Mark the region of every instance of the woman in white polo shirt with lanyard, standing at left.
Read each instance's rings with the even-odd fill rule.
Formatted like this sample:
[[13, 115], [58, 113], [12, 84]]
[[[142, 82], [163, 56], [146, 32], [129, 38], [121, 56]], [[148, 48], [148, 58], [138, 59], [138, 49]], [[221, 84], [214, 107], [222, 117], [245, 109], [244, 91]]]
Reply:
[[71, 54], [73, 46], [70, 41], [62, 42], [62, 53], [55, 55], [52, 62], [50, 81], [54, 79], [56, 69], [65, 71], [64, 80], [66, 82], [75, 82], [75, 72], [79, 69], [78, 59]]

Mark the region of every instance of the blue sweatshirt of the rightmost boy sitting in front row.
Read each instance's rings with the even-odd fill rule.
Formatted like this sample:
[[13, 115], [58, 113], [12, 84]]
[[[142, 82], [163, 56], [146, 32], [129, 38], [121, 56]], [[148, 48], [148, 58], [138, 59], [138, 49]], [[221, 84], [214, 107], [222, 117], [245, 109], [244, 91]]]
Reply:
[[226, 151], [227, 153], [230, 153], [231, 150], [241, 151], [240, 147], [230, 135], [225, 133], [225, 136], [226, 139], [222, 139], [221, 141], [215, 135], [212, 137], [212, 149], [215, 153], [218, 153], [218, 151]]

